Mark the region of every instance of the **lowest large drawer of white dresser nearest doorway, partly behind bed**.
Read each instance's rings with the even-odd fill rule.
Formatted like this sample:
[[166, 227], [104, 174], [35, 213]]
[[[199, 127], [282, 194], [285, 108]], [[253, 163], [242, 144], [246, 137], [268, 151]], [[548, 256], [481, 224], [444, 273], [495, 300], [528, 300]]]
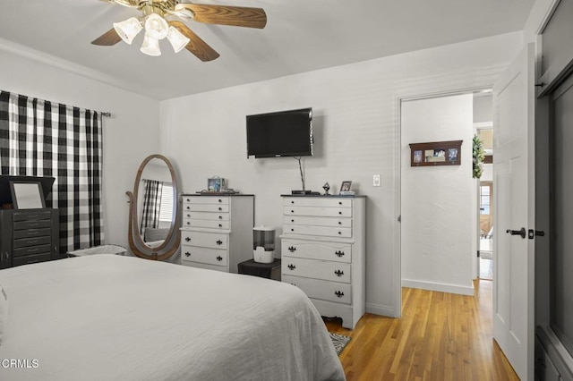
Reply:
[[294, 284], [303, 290], [309, 298], [346, 304], [352, 303], [352, 287], [350, 284], [338, 284], [292, 275], [282, 275], [281, 281]]

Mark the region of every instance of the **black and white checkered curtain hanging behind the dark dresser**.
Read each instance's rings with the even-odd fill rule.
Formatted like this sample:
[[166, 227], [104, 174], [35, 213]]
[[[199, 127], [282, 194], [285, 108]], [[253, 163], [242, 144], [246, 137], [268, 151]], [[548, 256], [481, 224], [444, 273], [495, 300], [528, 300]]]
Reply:
[[56, 178], [61, 253], [104, 241], [101, 122], [98, 112], [0, 92], [1, 172]]

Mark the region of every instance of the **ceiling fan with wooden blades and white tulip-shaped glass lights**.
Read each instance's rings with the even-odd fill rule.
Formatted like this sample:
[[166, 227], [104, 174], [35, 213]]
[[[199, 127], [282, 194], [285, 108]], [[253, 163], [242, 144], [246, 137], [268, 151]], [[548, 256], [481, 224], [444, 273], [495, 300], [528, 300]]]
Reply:
[[216, 59], [218, 53], [182, 21], [257, 29], [263, 29], [267, 24], [267, 15], [261, 8], [182, 3], [179, 0], [101, 1], [134, 8], [142, 14], [140, 17], [115, 22], [114, 28], [107, 30], [91, 43], [113, 46], [123, 39], [131, 44], [133, 38], [144, 29], [145, 37], [140, 50], [147, 55], [161, 55], [158, 41], [167, 38], [175, 53], [185, 48], [203, 62]]

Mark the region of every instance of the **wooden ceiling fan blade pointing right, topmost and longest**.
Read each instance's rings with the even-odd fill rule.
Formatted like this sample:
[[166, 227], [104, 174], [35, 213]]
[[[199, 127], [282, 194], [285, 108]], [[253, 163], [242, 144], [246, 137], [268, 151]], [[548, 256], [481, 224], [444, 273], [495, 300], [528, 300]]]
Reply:
[[263, 29], [267, 13], [262, 8], [210, 4], [176, 4], [175, 11], [187, 8], [195, 14], [194, 21], [206, 24], [231, 25]]

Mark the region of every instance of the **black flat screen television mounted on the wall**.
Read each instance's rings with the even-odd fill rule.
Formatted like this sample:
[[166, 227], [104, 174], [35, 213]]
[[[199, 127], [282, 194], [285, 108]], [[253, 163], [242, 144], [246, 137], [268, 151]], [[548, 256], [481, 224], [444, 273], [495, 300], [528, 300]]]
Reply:
[[246, 119], [247, 157], [312, 156], [312, 107]]

